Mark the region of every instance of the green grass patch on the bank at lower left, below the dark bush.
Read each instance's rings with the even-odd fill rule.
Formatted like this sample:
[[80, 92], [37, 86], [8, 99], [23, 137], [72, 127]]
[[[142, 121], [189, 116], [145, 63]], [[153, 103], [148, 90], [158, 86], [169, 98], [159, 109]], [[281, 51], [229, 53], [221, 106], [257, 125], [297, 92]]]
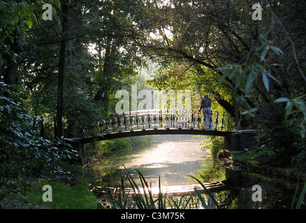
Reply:
[[[52, 187], [52, 201], [43, 201], [43, 185]], [[38, 183], [31, 193], [27, 194], [29, 203], [36, 203], [38, 208], [54, 209], [93, 209], [96, 208], [98, 200], [89, 192], [86, 183], [80, 185], [65, 185], [53, 181], [42, 181]]]

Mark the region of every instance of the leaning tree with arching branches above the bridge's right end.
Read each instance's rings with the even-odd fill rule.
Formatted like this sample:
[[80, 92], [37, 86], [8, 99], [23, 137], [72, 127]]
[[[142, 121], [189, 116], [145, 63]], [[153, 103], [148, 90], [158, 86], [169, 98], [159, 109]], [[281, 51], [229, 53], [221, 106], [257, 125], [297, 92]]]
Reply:
[[[151, 38], [150, 41], [140, 39], [136, 43], [152, 59], [160, 56], [182, 64], [189, 63], [189, 68], [194, 70], [193, 78], [205, 79], [209, 72], [215, 79], [215, 86], [223, 75], [222, 70], [217, 68], [228, 62], [239, 62], [256, 44], [254, 30], [258, 27], [251, 17], [247, 17], [246, 12], [252, 9], [249, 8], [249, 3], [250, 1], [170, 1], [163, 4], [162, 1], [153, 1], [148, 10], [150, 13], [153, 11], [154, 17], [150, 13], [148, 16], [159, 38]], [[232, 91], [233, 80], [226, 78], [226, 81], [224, 86], [231, 90], [231, 98], [217, 92], [215, 88], [205, 87], [204, 82], [201, 89], [207, 89], [206, 93], [214, 93], [217, 102], [239, 119], [235, 93]]]

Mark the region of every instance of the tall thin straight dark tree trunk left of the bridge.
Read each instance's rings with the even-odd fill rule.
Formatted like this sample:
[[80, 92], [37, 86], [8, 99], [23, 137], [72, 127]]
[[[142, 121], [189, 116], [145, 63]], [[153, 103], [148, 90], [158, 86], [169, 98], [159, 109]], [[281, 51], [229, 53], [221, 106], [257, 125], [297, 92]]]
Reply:
[[59, 76], [57, 85], [57, 128], [54, 132], [55, 137], [61, 137], [63, 129], [63, 110], [64, 110], [64, 67], [66, 56], [66, 26], [67, 26], [67, 11], [68, 6], [66, 1], [61, 1], [62, 8], [62, 21], [61, 21], [61, 49], [59, 54]]

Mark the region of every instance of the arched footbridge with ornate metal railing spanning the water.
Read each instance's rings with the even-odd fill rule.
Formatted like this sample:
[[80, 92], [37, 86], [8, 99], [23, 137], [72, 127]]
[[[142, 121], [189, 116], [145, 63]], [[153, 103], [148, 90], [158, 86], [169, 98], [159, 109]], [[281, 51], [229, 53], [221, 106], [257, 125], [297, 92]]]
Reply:
[[71, 143], [87, 144], [122, 137], [154, 134], [203, 134], [225, 137], [234, 128], [231, 116], [211, 112], [187, 110], [143, 110], [124, 114], [110, 114], [99, 122], [99, 134], [94, 137], [69, 139]]

